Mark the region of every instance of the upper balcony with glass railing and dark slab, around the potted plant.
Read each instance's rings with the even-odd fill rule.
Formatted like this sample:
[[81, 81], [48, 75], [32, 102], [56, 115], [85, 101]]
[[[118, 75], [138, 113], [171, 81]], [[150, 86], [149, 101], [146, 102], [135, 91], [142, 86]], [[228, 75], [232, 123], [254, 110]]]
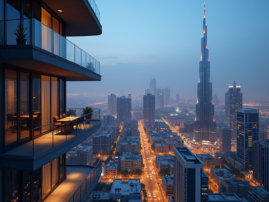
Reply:
[[[26, 45], [13, 34], [22, 23]], [[101, 81], [100, 62], [34, 18], [0, 21], [1, 62], [66, 77], [67, 81]]]

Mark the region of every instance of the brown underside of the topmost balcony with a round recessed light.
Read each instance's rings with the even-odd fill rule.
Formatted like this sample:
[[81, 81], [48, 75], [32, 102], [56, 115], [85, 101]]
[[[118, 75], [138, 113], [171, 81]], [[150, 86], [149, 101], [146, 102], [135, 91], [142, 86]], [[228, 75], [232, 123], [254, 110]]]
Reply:
[[66, 22], [66, 36], [102, 34], [102, 26], [87, 0], [43, 0], [43, 2]]

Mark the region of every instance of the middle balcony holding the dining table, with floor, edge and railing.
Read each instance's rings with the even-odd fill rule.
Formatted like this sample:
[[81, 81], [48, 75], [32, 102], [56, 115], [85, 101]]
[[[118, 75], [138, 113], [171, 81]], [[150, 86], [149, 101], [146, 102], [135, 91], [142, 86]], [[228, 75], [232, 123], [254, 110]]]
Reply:
[[[18, 147], [5, 152], [1, 156], [1, 167], [15, 170], [36, 170], [45, 162], [52, 161], [56, 157], [68, 152], [82, 141], [86, 140], [101, 126], [100, 109], [94, 109], [89, 123], [86, 123], [87, 115], [83, 116], [81, 130], [75, 126], [66, 124], [65, 128], [55, 127], [55, 123], [33, 128], [33, 138]], [[84, 126], [83, 126], [84, 125]], [[84, 128], [85, 127], [85, 128]]]

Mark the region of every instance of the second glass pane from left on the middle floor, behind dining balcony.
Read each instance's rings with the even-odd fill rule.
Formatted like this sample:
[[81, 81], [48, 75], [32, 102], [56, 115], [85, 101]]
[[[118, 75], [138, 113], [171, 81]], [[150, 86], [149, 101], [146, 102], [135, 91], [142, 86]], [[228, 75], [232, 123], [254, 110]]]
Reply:
[[[37, 115], [34, 115], [37, 118]], [[20, 139], [30, 137], [29, 73], [20, 73]]]

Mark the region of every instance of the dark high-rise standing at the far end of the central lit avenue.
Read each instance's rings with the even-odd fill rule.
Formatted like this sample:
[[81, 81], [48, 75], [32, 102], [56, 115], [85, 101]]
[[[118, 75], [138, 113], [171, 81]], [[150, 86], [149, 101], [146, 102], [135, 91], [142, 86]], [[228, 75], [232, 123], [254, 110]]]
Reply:
[[155, 121], [155, 95], [143, 95], [143, 121]]

